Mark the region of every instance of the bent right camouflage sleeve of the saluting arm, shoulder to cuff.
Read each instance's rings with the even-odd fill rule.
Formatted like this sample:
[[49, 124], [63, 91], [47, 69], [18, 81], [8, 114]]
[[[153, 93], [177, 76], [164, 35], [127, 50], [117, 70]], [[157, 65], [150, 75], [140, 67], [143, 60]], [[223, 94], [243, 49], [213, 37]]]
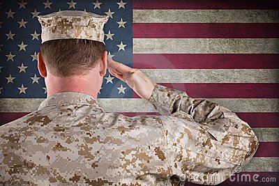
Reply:
[[248, 123], [220, 104], [159, 84], [149, 102], [163, 115], [169, 164], [180, 180], [222, 183], [247, 164], [259, 146]]

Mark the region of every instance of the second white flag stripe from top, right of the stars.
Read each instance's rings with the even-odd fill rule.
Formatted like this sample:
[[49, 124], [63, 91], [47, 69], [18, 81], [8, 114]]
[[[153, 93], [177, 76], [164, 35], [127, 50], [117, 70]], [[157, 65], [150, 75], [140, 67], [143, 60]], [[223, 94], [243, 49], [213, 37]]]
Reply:
[[278, 38], [134, 38], [134, 54], [278, 54]]

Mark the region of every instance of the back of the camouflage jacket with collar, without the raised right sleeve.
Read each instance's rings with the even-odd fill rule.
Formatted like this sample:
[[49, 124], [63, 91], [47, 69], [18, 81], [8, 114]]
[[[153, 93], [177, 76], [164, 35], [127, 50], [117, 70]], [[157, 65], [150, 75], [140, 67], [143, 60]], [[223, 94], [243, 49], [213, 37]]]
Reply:
[[163, 136], [158, 116], [105, 113], [87, 95], [59, 93], [1, 126], [0, 183], [166, 185]]

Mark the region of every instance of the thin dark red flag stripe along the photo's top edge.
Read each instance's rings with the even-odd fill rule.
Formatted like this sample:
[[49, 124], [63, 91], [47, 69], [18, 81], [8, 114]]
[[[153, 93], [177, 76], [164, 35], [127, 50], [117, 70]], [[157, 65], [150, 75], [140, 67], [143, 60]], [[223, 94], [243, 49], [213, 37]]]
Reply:
[[276, 0], [134, 0], [133, 9], [279, 9], [279, 3]]

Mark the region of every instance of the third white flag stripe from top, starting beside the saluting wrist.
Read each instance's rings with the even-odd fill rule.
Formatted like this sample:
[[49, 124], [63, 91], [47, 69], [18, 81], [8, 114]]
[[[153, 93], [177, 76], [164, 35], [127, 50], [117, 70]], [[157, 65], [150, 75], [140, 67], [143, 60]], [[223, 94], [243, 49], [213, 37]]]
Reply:
[[279, 83], [279, 69], [141, 70], [157, 83]]

